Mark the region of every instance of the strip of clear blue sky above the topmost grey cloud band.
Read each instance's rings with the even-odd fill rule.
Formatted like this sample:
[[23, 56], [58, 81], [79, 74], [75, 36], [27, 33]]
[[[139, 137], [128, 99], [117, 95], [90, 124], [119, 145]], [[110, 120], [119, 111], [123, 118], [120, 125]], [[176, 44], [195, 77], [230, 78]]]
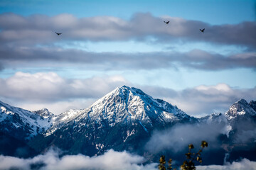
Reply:
[[204, 21], [210, 24], [240, 23], [255, 21], [254, 0], [28, 0], [1, 1], [0, 13], [14, 12], [23, 16], [35, 13], [48, 16], [73, 13], [78, 17], [117, 16], [130, 18], [137, 12], [150, 12], [154, 16], [176, 16], [188, 20]]

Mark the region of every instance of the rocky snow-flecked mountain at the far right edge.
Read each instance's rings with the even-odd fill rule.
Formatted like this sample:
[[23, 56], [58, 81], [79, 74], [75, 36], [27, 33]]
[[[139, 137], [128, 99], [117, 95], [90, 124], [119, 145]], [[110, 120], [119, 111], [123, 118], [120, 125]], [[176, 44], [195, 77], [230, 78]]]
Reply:
[[228, 153], [230, 159], [240, 157], [256, 161], [256, 111], [255, 101], [245, 99], [235, 102], [225, 113], [230, 125]]

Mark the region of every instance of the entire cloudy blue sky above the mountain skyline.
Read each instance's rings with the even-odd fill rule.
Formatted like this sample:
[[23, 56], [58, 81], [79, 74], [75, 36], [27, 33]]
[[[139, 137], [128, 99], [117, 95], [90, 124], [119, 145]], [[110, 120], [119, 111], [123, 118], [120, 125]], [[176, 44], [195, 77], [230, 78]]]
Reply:
[[255, 21], [255, 0], [1, 0], [0, 100], [58, 115], [127, 85], [224, 113], [256, 100]]

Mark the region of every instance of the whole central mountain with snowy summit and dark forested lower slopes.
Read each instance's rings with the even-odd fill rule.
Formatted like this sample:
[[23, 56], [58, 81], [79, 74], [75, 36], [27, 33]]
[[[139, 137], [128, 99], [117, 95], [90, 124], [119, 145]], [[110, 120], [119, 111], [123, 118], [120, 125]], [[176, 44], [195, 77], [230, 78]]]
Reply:
[[196, 118], [166, 101], [122, 86], [89, 108], [66, 111], [53, 118], [53, 126], [37, 136], [31, 145], [40, 150], [56, 146], [69, 154], [90, 156], [111, 148], [137, 152], [144, 147], [153, 130], [194, 121]]

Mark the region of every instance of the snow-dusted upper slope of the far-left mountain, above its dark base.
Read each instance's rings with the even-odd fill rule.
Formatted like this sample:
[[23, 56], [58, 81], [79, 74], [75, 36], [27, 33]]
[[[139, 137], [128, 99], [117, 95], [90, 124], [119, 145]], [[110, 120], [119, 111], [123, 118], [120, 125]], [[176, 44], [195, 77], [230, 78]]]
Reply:
[[26, 140], [50, 128], [51, 120], [0, 101], [0, 125], [1, 132]]

